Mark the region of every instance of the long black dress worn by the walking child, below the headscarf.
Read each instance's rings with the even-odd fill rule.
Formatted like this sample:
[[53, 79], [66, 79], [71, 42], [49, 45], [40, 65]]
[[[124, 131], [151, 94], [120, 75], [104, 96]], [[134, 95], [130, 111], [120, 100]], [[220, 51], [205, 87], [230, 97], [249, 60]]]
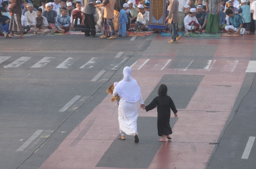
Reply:
[[173, 131], [170, 126], [170, 108], [173, 110], [174, 114], [178, 112], [174, 105], [174, 101], [167, 95], [157, 96], [149, 105], [146, 106], [146, 111], [152, 110], [156, 106], [158, 135], [171, 135]]

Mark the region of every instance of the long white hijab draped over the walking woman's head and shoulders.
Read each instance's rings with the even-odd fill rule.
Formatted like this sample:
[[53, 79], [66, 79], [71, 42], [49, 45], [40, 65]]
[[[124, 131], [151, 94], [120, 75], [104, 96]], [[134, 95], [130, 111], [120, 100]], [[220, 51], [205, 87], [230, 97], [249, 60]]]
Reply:
[[126, 101], [135, 103], [140, 99], [140, 88], [131, 74], [131, 68], [125, 67], [123, 70], [124, 78], [117, 84], [114, 90]]

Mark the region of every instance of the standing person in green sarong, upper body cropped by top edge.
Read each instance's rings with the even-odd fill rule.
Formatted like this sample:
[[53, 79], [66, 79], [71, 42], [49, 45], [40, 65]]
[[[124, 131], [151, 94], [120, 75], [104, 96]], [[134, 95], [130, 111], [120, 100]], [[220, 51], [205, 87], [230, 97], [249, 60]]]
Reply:
[[220, 0], [205, 0], [205, 6], [208, 12], [205, 33], [219, 33]]

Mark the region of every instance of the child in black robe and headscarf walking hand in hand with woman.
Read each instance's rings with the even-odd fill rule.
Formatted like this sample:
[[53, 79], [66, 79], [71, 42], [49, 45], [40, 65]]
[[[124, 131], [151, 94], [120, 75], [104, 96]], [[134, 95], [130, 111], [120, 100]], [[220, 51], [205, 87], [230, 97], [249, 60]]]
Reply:
[[170, 135], [173, 133], [172, 128], [170, 126], [170, 116], [171, 110], [174, 112], [174, 117], [177, 118], [177, 110], [174, 105], [174, 101], [170, 96], [167, 95], [167, 86], [165, 84], [161, 84], [158, 88], [158, 95], [155, 99], [147, 106], [143, 106], [142, 108], [146, 111], [153, 110], [157, 106], [157, 131], [158, 135], [162, 136], [159, 142], [166, 142], [166, 138], [172, 139]]

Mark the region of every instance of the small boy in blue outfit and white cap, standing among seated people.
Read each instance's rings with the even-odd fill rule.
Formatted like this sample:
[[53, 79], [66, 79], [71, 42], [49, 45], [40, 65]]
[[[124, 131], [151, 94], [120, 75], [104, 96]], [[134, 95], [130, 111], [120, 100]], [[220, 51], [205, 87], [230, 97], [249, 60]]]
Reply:
[[126, 10], [128, 10], [129, 5], [127, 3], [124, 3], [123, 8], [119, 12], [119, 30], [118, 34], [119, 36], [126, 37], [128, 36], [126, 34], [126, 24], [128, 24], [128, 17], [126, 15]]

